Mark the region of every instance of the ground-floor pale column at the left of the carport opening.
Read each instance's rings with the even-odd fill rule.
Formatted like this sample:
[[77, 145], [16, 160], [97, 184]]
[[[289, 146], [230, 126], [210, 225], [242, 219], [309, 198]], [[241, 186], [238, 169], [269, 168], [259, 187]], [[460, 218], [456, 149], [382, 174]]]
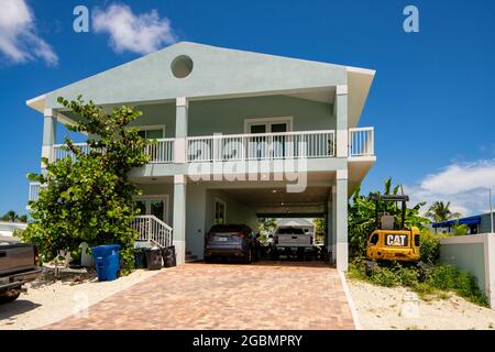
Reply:
[[177, 264], [186, 260], [186, 177], [174, 176], [174, 245], [177, 254]]

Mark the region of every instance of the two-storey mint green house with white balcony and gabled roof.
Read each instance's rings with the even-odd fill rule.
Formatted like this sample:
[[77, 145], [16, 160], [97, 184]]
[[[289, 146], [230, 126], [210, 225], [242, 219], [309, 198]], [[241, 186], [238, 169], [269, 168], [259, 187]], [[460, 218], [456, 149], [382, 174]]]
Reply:
[[[202, 257], [215, 223], [324, 217], [331, 258], [346, 270], [348, 198], [376, 161], [373, 128], [359, 127], [374, 74], [183, 42], [26, 103], [43, 114], [51, 160], [65, 153], [56, 124], [77, 119], [57, 97], [143, 111], [135, 125], [157, 144], [130, 175], [144, 190], [135, 227], [173, 237], [179, 263]], [[30, 199], [37, 191], [30, 185]]]

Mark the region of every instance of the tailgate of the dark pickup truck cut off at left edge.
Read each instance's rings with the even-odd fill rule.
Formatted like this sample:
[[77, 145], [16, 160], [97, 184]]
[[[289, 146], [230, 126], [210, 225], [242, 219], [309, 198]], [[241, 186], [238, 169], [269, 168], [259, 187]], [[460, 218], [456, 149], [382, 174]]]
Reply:
[[32, 270], [34, 266], [34, 246], [32, 244], [0, 245], [0, 276]]

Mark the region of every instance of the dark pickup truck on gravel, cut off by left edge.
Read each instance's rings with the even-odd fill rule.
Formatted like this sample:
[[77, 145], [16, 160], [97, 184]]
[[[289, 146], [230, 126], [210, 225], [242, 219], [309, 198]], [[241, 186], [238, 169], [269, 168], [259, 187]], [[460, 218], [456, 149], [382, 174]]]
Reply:
[[15, 300], [25, 292], [23, 285], [40, 276], [37, 260], [33, 244], [0, 235], [0, 305]]

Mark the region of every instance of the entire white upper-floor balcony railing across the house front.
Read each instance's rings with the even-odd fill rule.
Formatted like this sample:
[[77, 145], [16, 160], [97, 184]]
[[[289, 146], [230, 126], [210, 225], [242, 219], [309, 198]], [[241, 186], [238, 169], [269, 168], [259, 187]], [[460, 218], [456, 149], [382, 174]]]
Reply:
[[[184, 143], [184, 142], [183, 142]], [[186, 138], [187, 163], [226, 161], [318, 158], [336, 156], [336, 131], [297, 131], [260, 134], [218, 134]], [[156, 140], [146, 147], [150, 164], [172, 164], [179, 162], [175, 150], [177, 139]], [[85, 143], [75, 144], [88, 152]], [[54, 145], [53, 157], [74, 157], [62, 144]], [[349, 130], [349, 157], [374, 155], [374, 129]]]

